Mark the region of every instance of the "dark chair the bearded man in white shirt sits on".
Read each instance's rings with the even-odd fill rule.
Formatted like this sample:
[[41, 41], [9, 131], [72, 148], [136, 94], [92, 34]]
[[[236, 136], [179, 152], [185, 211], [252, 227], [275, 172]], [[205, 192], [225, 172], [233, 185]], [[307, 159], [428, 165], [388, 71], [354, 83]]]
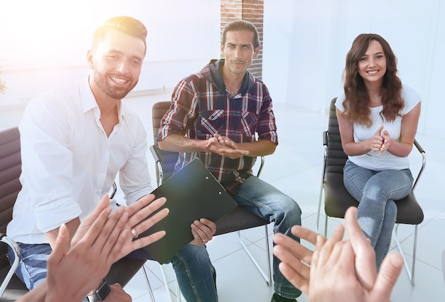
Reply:
[[[0, 302], [16, 301], [28, 292], [25, 284], [18, 279], [15, 271], [20, 260], [18, 245], [6, 236], [6, 225], [12, 219], [12, 209], [21, 183], [20, 133], [17, 127], [0, 131]], [[8, 244], [16, 253], [16, 261], [11, 266], [6, 258]], [[112, 265], [107, 275], [110, 284], [119, 283], [124, 287], [145, 260], [121, 259]]]

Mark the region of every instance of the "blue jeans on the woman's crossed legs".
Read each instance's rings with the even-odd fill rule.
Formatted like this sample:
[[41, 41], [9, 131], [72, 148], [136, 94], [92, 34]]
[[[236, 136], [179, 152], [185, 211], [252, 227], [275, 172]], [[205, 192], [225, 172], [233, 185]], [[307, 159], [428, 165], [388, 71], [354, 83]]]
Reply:
[[409, 168], [371, 171], [348, 160], [343, 181], [346, 190], [359, 202], [358, 224], [371, 240], [377, 269], [380, 269], [390, 249], [392, 229], [397, 217], [394, 200], [402, 199], [411, 192], [411, 171]]

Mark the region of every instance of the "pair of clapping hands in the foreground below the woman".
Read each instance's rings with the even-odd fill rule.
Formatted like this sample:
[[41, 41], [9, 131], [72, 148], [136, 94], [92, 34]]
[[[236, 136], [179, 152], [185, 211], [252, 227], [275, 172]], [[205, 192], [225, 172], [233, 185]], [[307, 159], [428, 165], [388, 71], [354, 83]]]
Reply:
[[[333, 236], [294, 226], [292, 234], [315, 245], [312, 251], [284, 234], [274, 236], [274, 254], [282, 262], [279, 270], [311, 302], [389, 302], [402, 270], [400, 254], [388, 254], [377, 274], [375, 252], [356, 219], [357, 209], [345, 214]], [[343, 240], [346, 229], [348, 239]]]

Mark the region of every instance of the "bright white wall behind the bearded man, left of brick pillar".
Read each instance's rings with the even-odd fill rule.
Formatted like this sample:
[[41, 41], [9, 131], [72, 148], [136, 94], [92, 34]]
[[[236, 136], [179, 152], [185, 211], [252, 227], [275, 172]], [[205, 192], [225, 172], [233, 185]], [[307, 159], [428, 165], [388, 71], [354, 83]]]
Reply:
[[163, 90], [220, 57], [219, 0], [1, 1], [0, 110], [87, 74], [92, 32], [128, 15], [147, 27], [147, 53], [134, 92]]

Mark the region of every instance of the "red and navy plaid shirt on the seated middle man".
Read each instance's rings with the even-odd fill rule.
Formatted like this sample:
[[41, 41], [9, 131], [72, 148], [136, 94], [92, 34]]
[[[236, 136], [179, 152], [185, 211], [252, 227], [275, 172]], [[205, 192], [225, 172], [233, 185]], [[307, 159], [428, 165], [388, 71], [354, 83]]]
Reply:
[[[200, 72], [176, 85], [172, 103], [161, 120], [157, 141], [170, 134], [191, 139], [210, 139], [214, 134], [227, 136], [235, 143], [268, 139], [278, 144], [272, 99], [262, 81], [250, 72], [237, 95], [226, 90], [222, 68], [224, 60], [212, 60]], [[198, 157], [230, 193], [252, 176], [256, 158], [227, 158], [217, 153], [180, 153], [175, 171]]]

